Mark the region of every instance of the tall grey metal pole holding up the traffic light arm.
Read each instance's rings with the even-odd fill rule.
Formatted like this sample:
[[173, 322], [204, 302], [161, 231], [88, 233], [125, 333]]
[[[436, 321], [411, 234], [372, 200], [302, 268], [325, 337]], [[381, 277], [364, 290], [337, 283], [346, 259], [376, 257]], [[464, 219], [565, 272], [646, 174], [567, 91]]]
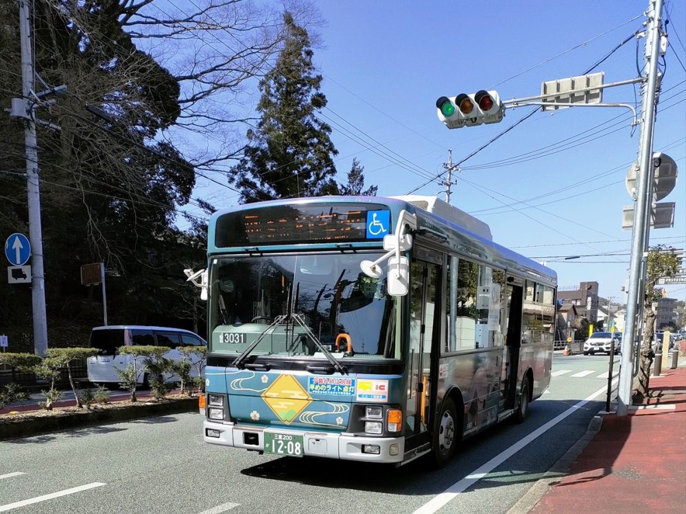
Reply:
[[[650, 233], [650, 208], [652, 208], [652, 132], [655, 123], [655, 96], [657, 95], [657, 61], [660, 51], [660, 21], [662, 0], [650, 0], [648, 5], [648, 30], [646, 34], [646, 69], [648, 82], [643, 88], [643, 120], [639, 143], [639, 170], [637, 173], [636, 202], [634, 209], [634, 228], [631, 236], [631, 258], [629, 265], [629, 289], [626, 304], [626, 326], [622, 337], [622, 365], [619, 368], [619, 388], [617, 394], [617, 415], [626, 416], [631, 403], [633, 382], [632, 358], [637, 336], [638, 303], [643, 297], [641, 279], [646, 272], [642, 265], [646, 253], [646, 241]], [[650, 53], [648, 53], [650, 51]], [[649, 196], [650, 195], [650, 196]], [[648, 211], [648, 212], [646, 212]]]

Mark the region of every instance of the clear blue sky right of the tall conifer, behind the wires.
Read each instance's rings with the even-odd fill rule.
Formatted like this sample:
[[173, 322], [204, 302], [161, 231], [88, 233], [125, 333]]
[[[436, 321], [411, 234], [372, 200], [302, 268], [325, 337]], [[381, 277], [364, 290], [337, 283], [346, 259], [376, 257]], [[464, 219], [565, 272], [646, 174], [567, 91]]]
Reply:
[[[408, 193], [438, 175], [448, 151], [469, 156], [533, 108], [506, 110], [504, 121], [448, 130], [436, 117], [438, 97], [496, 89], [511, 99], [540, 93], [541, 82], [580, 75], [645, 21], [648, 0], [357, 1], [317, 4], [324, 25], [314, 61], [333, 127], [336, 165], [345, 179], [353, 157], [379, 195]], [[653, 230], [651, 244], [684, 248], [686, 239], [686, 9], [666, 2], [670, 47], [657, 114], [654, 150], [681, 169], [674, 228]], [[605, 82], [637, 77], [632, 38], [593, 71]], [[643, 40], [639, 41], [643, 66]], [[610, 88], [604, 101], [637, 104], [633, 86]], [[452, 203], [490, 225], [498, 243], [547, 262], [560, 286], [597, 280], [600, 295], [624, 302], [631, 232], [621, 228], [624, 186], [637, 157], [638, 127], [619, 108], [539, 112], [461, 164]], [[198, 195], [210, 193], [199, 189]], [[430, 182], [417, 194], [443, 188]], [[217, 195], [213, 193], [217, 204]], [[237, 201], [222, 193], [218, 206]], [[563, 260], [555, 256], [588, 256]], [[686, 299], [686, 287], [667, 286]]]

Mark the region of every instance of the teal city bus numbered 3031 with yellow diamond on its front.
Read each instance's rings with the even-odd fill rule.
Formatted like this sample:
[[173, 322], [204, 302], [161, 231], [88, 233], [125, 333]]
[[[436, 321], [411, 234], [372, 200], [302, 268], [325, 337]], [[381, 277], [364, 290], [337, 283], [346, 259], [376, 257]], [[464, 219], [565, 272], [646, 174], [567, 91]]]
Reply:
[[215, 212], [206, 443], [401, 465], [523, 421], [549, 385], [556, 273], [435, 197]]

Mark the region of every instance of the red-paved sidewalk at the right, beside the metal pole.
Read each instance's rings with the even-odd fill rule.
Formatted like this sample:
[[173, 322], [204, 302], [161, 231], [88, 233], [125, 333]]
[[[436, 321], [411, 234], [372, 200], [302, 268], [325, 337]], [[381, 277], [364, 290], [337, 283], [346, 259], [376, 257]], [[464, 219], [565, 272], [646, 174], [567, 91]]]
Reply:
[[686, 513], [686, 368], [650, 378], [652, 395], [609, 414], [530, 514]]

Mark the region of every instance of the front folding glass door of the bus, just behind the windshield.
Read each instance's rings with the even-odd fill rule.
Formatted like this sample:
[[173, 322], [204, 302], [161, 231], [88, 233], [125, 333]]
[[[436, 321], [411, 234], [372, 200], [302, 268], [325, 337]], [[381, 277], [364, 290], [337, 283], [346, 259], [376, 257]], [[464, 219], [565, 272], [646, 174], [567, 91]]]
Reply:
[[[415, 255], [418, 254], [415, 249]], [[436, 254], [436, 252], [434, 252]], [[428, 252], [421, 257], [430, 258]], [[438, 258], [435, 256], [434, 258]], [[405, 409], [405, 451], [431, 440], [432, 399], [436, 384], [431, 369], [438, 367], [440, 341], [439, 263], [413, 260], [410, 268], [410, 341]], [[432, 356], [434, 358], [432, 358]]]

